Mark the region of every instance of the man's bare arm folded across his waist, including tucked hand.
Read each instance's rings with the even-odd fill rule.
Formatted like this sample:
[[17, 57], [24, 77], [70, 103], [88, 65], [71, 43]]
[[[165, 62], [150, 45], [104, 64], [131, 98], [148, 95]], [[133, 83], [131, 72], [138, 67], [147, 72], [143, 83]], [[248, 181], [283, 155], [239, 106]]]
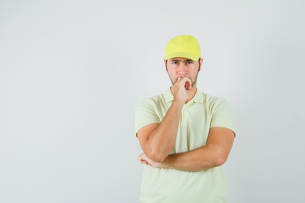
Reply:
[[[186, 171], [200, 171], [223, 165], [229, 156], [234, 140], [234, 132], [227, 128], [210, 129], [207, 144], [194, 150], [169, 155], [162, 163], [154, 163], [145, 154], [139, 156], [143, 164]], [[144, 162], [143, 162], [144, 160]]]

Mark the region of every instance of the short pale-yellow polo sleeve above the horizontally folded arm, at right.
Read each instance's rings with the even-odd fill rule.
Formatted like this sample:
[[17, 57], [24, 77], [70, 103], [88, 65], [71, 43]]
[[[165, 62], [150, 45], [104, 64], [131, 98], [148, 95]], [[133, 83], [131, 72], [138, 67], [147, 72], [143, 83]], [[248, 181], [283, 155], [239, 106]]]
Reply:
[[211, 123], [212, 127], [224, 127], [231, 129], [235, 136], [234, 116], [232, 108], [227, 99], [219, 97], [211, 110]]

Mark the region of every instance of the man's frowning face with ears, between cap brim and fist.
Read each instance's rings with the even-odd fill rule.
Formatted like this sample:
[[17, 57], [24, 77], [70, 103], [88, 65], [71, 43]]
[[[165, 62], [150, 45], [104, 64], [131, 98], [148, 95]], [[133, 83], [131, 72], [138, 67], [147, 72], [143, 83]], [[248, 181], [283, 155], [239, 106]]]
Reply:
[[197, 81], [199, 70], [201, 70], [202, 60], [200, 58], [199, 62], [183, 57], [170, 58], [167, 62], [164, 60], [172, 84], [174, 85], [179, 77], [187, 76], [191, 79], [191, 87], [193, 87]]

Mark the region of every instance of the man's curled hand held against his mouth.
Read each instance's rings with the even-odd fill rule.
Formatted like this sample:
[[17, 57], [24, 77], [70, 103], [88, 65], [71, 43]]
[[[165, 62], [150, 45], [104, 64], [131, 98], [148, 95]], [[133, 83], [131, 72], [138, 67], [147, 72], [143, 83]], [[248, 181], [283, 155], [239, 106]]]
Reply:
[[174, 100], [185, 103], [188, 99], [187, 90], [191, 90], [191, 79], [188, 77], [178, 77], [173, 89]]

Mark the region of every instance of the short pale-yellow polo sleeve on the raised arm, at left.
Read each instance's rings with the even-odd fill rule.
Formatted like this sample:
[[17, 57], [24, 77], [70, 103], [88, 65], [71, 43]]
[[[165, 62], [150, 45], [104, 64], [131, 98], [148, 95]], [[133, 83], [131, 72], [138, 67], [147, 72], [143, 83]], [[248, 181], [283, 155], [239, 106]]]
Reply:
[[139, 129], [151, 123], [161, 123], [156, 113], [155, 105], [149, 98], [142, 98], [134, 114], [135, 135]]

